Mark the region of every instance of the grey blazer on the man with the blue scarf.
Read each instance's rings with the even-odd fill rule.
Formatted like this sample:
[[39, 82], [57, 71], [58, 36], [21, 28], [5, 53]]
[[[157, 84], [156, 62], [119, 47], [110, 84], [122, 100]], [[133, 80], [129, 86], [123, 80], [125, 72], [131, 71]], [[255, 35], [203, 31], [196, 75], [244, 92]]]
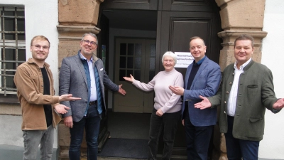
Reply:
[[[59, 75], [59, 95], [72, 94], [73, 97], [81, 97], [81, 100], [65, 101], [61, 102], [62, 105], [70, 107], [70, 110], [66, 114], [62, 114], [62, 117], [68, 117], [72, 115], [72, 119], [78, 122], [84, 117], [87, 105], [89, 105], [89, 90], [87, 86], [87, 78], [84, 72], [84, 66], [80, 58], [80, 52], [72, 57], [63, 58]], [[107, 111], [107, 106], [104, 97], [104, 86], [111, 91], [118, 91], [119, 86], [114, 84], [109, 79], [102, 60], [97, 58], [96, 55], [92, 55], [94, 67], [99, 72], [99, 82], [102, 90], [102, 106], [103, 110]]]

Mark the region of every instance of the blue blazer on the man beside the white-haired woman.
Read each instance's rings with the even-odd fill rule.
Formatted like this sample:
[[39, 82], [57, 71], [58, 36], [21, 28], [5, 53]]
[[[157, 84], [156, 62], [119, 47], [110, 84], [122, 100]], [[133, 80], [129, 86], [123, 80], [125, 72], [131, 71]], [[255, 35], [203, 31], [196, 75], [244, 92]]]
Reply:
[[217, 108], [207, 108], [200, 110], [195, 108], [195, 103], [200, 102], [200, 95], [203, 97], [211, 97], [217, 93], [221, 82], [221, 70], [217, 63], [205, 57], [200, 65], [199, 70], [192, 81], [190, 90], [186, 90], [188, 77], [192, 70], [192, 64], [188, 65], [185, 74], [185, 92], [183, 95], [182, 115], [185, 111], [185, 103], [188, 102], [188, 112], [190, 122], [197, 127], [214, 125], [217, 122]]

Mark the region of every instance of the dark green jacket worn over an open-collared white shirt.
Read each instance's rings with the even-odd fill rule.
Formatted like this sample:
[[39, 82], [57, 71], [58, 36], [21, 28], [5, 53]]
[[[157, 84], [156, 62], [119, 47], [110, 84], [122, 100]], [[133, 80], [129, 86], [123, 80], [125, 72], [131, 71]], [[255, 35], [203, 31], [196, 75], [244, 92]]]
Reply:
[[[228, 129], [226, 111], [233, 80], [234, 63], [224, 69], [217, 95], [208, 98], [212, 107], [221, 105], [219, 127], [222, 133], [226, 133]], [[274, 113], [279, 112], [280, 110], [274, 110], [272, 107], [277, 100], [271, 70], [251, 60], [239, 78], [233, 124], [234, 138], [261, 141], [264, 134], [266, 108]]]

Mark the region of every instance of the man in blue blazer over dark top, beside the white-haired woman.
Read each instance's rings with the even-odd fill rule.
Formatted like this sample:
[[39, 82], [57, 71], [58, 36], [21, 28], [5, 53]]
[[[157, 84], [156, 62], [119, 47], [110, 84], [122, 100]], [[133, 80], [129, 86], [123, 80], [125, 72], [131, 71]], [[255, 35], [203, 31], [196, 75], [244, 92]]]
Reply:
[[195, 60], [187, 67], [185, 88], [170, 86], [177, 95], [183, 95], [182, 124], [187, 140], [187, 159], [207, 160], [209, 142], [217, 122], [217, 108], [200, 110], [195, 103], [200, 95], [215, 95], [221, 81], [221, 70], [217, 63], [209, 60], [204, 40], [190, 38], [190, 53]]

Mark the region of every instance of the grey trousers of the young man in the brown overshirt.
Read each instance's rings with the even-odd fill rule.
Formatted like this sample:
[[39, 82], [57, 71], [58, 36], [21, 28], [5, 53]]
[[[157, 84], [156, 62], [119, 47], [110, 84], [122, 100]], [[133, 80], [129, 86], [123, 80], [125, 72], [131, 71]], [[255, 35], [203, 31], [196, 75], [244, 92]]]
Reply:
[[35, 160], [40, 144], [40, 160], [51, 160], [53, 156], [54, 128], [46, 130], [23, 130], [23, 160]]

